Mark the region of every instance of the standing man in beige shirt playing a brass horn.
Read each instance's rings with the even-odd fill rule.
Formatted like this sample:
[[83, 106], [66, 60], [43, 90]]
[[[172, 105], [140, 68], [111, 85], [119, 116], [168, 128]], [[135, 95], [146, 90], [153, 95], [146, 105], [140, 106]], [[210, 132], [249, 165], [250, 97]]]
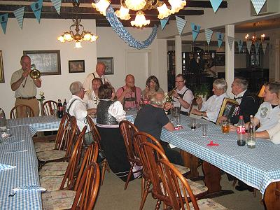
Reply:
[[[31, 78], [31, 59], [28, 55], [22, 55], [20, 58], [22, 68], [15, 71], [10, 79], [10, 87], [15, 91], [15, 106], [23, 104], [30, 106], [34, 111], [34, 115], [39, 115], [39, 105], [36, 99], [37, 88], [41, 87], [42, 80], [40, 78]], [[26, 112], [18, 111], [18, 117], [23, 118]]]

